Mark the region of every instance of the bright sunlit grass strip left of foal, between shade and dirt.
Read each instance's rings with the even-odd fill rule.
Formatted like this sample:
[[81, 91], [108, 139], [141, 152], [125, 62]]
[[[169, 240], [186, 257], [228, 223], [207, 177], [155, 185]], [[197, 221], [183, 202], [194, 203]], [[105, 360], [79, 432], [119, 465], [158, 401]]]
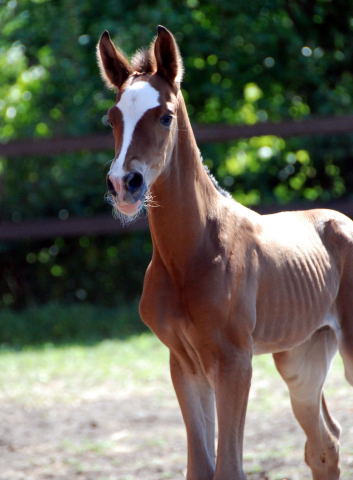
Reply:
[[149, 333], [93, 345], [0, 349], [0, 395], [24, 402], [72, 401], [108, 383], [127, 391], [166, 375], [167, 349]]

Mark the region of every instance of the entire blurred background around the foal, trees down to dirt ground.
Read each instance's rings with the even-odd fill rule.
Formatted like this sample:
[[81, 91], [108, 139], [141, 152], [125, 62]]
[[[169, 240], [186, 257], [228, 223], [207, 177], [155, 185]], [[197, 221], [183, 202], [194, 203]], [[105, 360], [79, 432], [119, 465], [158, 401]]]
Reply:
[[[185, 478], [168, 352], [137, 304], [146, 217], [112, 219], [108, 29], [132, 55], [163, 24], [205, 163], [260, 212], [353, 216], [353, 2], [0, 0], [0, 472], [7, 480]], [[351, 398], [325, 390], [353, 478]], [[254, 359], [249, 480], [308, 480], [304, 438], [269, 356]]]

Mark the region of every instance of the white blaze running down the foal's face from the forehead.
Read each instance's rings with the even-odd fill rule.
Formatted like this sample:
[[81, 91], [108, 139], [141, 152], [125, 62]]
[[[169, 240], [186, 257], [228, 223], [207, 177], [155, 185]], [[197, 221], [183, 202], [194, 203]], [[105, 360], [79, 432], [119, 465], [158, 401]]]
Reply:
[[112, 164], [111, 175], [121, 178], [126, 173], [123, 164], [137, 122], [148, 110], [160, 105], [158, 98], [158, 90], [145, 81], [133, 83], [121, 95], [116, 106], [123, 117], [123, 139], [119, 156]]

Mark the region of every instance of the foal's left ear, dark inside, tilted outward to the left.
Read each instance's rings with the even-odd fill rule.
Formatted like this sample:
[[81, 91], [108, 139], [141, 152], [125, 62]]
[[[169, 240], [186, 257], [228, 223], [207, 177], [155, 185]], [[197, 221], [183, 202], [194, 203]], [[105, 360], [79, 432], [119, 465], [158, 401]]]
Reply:
[[127, 58], [111, 41], [105, 31], [97, 45], [97, 60], [103, 80], [108, 88], [120, 88], [132, 73]]

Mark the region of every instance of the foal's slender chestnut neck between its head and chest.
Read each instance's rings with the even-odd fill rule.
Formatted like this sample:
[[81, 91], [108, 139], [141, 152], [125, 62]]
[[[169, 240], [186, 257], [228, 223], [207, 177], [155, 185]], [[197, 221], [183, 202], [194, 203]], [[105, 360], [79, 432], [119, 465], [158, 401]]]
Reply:
[[202, 165], [181, 94], [170, 162], [151, 193], [157, 204], [148, 212], [154, 253], [166, 268], [181, 273], [200, 248], [219, 197]]

